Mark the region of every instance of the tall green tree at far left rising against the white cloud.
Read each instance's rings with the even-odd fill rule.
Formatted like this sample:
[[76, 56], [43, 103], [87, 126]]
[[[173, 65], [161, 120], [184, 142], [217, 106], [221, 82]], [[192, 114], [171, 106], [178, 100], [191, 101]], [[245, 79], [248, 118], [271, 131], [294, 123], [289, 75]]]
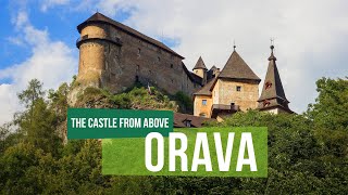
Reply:
[[37, 79], [30, 80], [27, 89], [18, 93], [20, 101], [27, 109], [16, 115], [15, 125], [25, 142], [57, 155], [61, 145], [57, 132], [59, 120], [44, 94], [42, 83]]

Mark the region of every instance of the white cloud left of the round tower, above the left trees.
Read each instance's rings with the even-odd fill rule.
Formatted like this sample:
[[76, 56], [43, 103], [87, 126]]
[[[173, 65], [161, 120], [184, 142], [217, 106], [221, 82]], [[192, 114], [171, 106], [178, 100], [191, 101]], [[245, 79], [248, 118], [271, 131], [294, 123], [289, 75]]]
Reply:
[[57, 89], [60, 83], [71, 81], [76, 73], [77, 62], [71, 48], [61, 41], [51, 41], [47, 29], [37, 29], [28, 21], [15, 24], [23, 32], [18, 36], [23, 38], [21, 42], [30, 47], [33, 54], [20, 64], [0, 69], [0, 79], [12, 80], [0, 86], [0, 125], [10, 121], [21, 109], [16, 93], [25, 89], [29, 80], [37, 78], [45, 89]]

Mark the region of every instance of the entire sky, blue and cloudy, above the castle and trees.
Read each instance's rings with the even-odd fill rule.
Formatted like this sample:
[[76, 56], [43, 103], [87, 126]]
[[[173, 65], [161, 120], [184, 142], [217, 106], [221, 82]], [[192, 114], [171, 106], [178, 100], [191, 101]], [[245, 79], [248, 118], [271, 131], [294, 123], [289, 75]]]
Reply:
[[[16, 0], [0, 1], [0, 125], [22, 106], [16, 93], [38, 78], [45, 88], [77, 73], [76, 26], [97, 10], [185, 56], [222, 68], [237, 51], [262, 79], [270, 38], [290, 108], [307, 109], [321, 77], [348, 76], [346, 0]], [[260, 84], [260, 86], [261, 86]]]

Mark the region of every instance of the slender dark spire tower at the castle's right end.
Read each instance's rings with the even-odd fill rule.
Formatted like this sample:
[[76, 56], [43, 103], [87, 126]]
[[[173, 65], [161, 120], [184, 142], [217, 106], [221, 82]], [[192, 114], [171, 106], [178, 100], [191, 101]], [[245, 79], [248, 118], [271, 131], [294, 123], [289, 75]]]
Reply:
[[262, 93], [258, 100], [258, 109], [274, 114], [294, 113], [289, 109], [289, 101], [285, 96], [278, 68], [276, 67], [276, 57], [273, 54], [274, 46], [271, 46], [271, 56], [269, 57], [269, 68], [262, 86]]

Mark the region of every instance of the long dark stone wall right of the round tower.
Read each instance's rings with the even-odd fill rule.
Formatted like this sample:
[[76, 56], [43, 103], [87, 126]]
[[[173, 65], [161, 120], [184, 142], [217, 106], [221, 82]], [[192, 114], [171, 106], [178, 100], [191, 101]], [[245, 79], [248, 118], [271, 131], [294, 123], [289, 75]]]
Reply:
[[[183, 69], [182, 58], [154, 44], [134, 37], [111, 25], [103, 25], [109, 39], [120, 39], [122, 47], [105, 42], [103, 86], [113, 92], [132, 87], [136, 80], [154, 84], [170, 94], [191, 94], [195, 84]], [[196, 88], [195, 88], [196, 86]]]

